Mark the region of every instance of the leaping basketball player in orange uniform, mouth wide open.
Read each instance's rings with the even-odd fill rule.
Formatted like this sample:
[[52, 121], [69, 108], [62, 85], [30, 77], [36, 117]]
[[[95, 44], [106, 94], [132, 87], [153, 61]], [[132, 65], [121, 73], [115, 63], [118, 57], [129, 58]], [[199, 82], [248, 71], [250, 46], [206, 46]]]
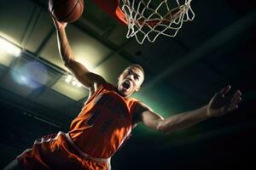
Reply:
[[53, 20], [61, 59], [90, 94], [68, 133], [59, 132], [37, 139], [31, 149], [25, 150], [5, 170], [107, 170], [110, 169], [111, 156], [137, 123], [142, 122], [162, 133], [172, 133], [234, 111], [241, 101], [241, 92], [237, 90], [228, 96], [230, 86], [227, 86], [216, 93], [207, 105], [164, 119], [143, 102], [130, 97], [143, 84], [144, 71], [140, 65], [128, 66], [119, 76], [116, 86], [109, 84], [74, 58], [65, 31], [67, 23]]

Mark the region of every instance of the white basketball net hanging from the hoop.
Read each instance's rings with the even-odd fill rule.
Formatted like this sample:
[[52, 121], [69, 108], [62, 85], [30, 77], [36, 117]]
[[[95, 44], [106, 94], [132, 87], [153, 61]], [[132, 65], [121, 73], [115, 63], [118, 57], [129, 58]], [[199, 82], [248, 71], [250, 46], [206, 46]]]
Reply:
[[142, 44], [145, 39], [154, 42], [164, 35], [175, 37], [184, 21], [193, 20], [192, 0], [121, 0], [121, 8], [127, 20], [126, 37], [136, 37]]

